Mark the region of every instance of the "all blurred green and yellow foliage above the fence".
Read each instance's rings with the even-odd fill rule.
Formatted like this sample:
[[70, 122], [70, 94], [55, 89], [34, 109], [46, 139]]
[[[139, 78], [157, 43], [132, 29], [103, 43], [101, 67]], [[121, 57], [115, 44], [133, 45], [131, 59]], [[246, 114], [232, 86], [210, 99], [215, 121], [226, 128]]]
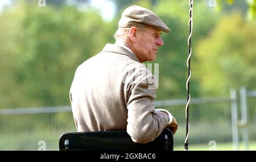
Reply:
[[[188, 1], [114, 1], [115, 17], [62, 1], [14, 1], [0, 14], [0, 108], [69, 105], [77, 66], [94, 56], [113, 33], [123, 8], [141, 5], [171, 28], [163, 33], [158, 100], [185, 99]], [[77, 1], [88, 4], [89, 1]], [[129, 3], [130, 2], [130, 3]], [[255, 89], [255, 1], [196, 1], [192, 36], [192, 97], [229, 95], [230, 88]], [[100, 66], [100, 65], [98, 65]]]

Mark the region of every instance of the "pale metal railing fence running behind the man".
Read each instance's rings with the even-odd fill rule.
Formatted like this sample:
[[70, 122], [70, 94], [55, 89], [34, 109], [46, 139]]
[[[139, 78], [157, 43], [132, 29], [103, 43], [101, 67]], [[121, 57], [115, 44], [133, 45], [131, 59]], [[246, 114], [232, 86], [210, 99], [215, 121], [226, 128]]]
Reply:
[[[186, 103], [186, 100], [155, 102], [156, 107], [170, 110], [179, 123], [175, 148], [184, 145]], [[249, 150], [251, 141], [256, 141], [255, 106], [256, 91], [245, 88], [240, 89], [240, 98], [232, 90], [229, 97], [192, 99], [189, 146], [233, 142], [229, 150], [239, 150], [241, 143]], [[76, 131], [70, 106], [0, 109], [0, 150], [59, 150], [60, 135], [69, 131]]]

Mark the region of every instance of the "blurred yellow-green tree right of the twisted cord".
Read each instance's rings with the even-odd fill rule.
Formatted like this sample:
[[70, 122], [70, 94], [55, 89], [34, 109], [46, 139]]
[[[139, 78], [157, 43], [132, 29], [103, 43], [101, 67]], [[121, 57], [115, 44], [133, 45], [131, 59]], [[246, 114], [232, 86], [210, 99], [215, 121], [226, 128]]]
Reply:
[[256, 88], [255, 21], [224, 16], [196, 48], [194, 71], [204, 96], [229, 95], [230, 88]]

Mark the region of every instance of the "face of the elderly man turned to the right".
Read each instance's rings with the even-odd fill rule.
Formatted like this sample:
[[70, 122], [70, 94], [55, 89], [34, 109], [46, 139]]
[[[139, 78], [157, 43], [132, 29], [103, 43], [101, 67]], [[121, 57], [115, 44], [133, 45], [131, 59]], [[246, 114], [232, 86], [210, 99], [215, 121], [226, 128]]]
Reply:
[[137, 41], [134, 44], [135, 54], [140, 62], [155, 61], [158, 47], [163, 46], [161, 31], [151, 27], [143, 30], [137, 33]]

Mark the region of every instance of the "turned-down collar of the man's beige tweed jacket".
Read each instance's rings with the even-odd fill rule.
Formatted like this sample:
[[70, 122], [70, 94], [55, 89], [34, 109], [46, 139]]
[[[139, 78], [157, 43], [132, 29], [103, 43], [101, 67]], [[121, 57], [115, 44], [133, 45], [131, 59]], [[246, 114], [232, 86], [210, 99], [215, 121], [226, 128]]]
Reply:
[[114, 44], [106, 44], [104, 49], [102, 49], [104, 52], [114, 52], [119, 54], [124, 54], [126, 56], [129, 56], [134, 61], [139, 62], [139, 59], [135, 54], [131, 53], [129, 50], [123, 48], [122, 46], [114, 45]]

